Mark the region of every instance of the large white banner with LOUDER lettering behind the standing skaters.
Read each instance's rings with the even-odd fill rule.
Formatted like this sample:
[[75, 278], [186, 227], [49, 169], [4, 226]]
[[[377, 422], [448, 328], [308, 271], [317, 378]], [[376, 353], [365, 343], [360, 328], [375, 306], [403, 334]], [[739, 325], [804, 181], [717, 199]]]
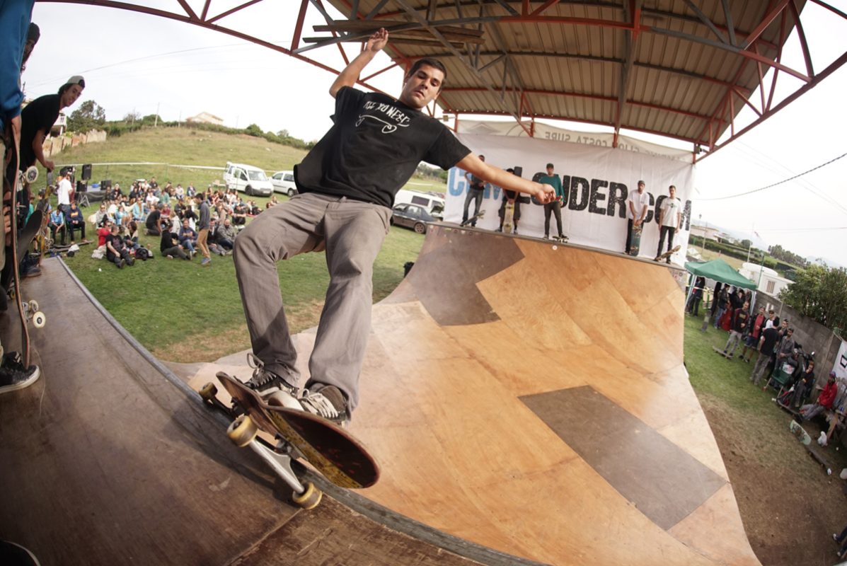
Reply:
[[[645, 180], [650, 193], [650, 212], [645, 219], [639, 255], [652, 258], [659, 243], [657, 213], [667, 187], [677, 187], [677, 197], [683, 203], [682, 227], [673, 244], [681, 247], [672, 260], [684, 264], [690, 228], [690, 194], [694, 187], [694, 165], [681, 161], [656, 158], [643, 153], [575, 143], [540, 140], [518, 136], [459, 135], [459, 139], [474, 153], [484, 155], [489, 164], [502, 169], [520, 167], [522, 177], [545, 175], [545, 166], [552, 163], [562, 179], [566, 204], [562, 207], [562, 228], [572, 243], [623, 252], [627, 238], [626, 203], [629, 191], [637, 190], [638, 181]], [[447, 178], [445, 220], [459, 223], [464, 213], [468, 180], [465, 172], [453, 168]], [[478, 228], [496, 230], [500, 225], [498, 211], [502, 191], [486, 186], [484, 217]], [[469, 214], [473, 215], [473, 204]], [[544, 207], [539, 203], [523, 203], [518, 233], [525, 236], [544, 236]], [[556, 219], [551, 217], [551, 236], [556, 235]], [[666, 243], [667, 248], [667, 243]]]

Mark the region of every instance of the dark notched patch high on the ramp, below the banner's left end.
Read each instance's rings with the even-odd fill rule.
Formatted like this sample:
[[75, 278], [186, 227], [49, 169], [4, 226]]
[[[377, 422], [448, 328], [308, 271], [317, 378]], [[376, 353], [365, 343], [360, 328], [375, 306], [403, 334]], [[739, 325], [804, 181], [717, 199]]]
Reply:
[[[457, 245], [460, 238], [472, 238], [473, 242]], [[445, 326], [499, 320], [477, 284], [523, 259], [516, 240], [473, 230], [440, 229], [427, 237], [427, 244], [406, 279], [429, 315]], [[458, 255], [468, 249], [473, 250], [472, 255]]]

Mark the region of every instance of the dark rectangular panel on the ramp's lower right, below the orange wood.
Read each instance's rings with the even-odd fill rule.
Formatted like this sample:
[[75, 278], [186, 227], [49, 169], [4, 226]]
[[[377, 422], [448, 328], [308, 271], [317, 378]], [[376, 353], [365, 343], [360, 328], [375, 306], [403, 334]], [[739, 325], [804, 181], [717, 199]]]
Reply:
[[668, 530], [726, 481], [591, 386], [521, 397], [641, 513]]

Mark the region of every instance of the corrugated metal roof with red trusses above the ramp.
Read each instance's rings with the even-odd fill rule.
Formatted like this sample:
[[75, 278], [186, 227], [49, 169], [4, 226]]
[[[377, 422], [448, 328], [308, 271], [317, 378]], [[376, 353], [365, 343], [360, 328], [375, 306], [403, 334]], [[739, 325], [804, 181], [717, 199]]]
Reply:
[[[546, 118], [607, 125], [616, 143], [622, 128], [644, 131], [690, 142], [695, 154], [733, 141], [847, 62], [845, 51], [815, 68], [800, 17], [805, 0], [328, 0], [346, 19], [334, 19], [321, 0], [301, 0], [283, 8], [296, 11], [290, 48], [226, 26], [232, 14], [268, 0], [219, 14], [212, 0], [193, 1], [195, 8], [172, 0], [173, 12], [113, 0], [49, 1], [178, 19], [336, 72], [343, 64], [334, 69], [313, 50], [358, 44], [385, 27], [395, 64], [437, 57], [446, 65], [437, 101], [445, 113], [512, 116], [530, 136], [534, 119]], [[808, 3], [847, 21], [821, 0]], [[303, 36], [307, 11], [325, 22], [313, 25], [314, 36]], [[782, 63], [792, 33], [800, 68]], [[792, 84], [789, 95], [775, 97], [778, 80], [781, 89]], [[736, 124], [745, 106], [756, 118]]]

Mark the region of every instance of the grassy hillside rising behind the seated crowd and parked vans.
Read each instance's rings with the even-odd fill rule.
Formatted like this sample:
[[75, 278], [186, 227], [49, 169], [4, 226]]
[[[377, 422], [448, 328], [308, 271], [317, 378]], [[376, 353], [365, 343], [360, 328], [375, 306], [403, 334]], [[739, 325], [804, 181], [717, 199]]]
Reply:
[[[191, 128], [159, 127], [110, 137], [106, 142], [91, 143], [65, 150], [53, 156], [57, 167], [64, 164], [94, 164], [91, 181], [110, 179], [128, 186], [131, 180], [155, 176], [160, 185], [170, 181], [183, 186], [189, 182], [206, 187], [222, 180], [227, 161], [246, 163], [269, 173], [291, 169], [306, 152], [295, 147], [271, 143], [245, 134], [229, 135]], [[163, 163], [169, 165], [98, 165], [106, 163]], [[194, 165], [178, 168], [173, 165]], [[43, 174], [44, 171], [40, 171]], [[79, 178], [79, 171], [77, 178]], [[44, 179], [44, 177], [42, 177]], [[41, 181], [38, 182], [41, 184]]]

